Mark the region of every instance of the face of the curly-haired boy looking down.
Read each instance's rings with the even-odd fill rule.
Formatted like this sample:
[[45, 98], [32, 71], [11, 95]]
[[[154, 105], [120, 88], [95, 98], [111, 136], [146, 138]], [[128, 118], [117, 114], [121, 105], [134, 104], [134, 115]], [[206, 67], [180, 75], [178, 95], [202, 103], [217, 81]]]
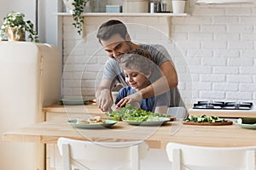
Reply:
[[148, 77], [146, 77], [143, 73], [135, 70], [124, 69], [125, 73], [125, 82], [128, 83], [131, 88], [136, 89], [137, 91], [145, 88], [150, 83], [148, 81]]

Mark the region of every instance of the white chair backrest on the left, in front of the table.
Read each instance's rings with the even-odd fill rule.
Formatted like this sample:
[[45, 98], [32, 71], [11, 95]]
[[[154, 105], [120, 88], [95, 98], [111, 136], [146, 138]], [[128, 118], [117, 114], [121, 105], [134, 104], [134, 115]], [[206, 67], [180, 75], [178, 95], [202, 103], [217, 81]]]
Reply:
[[80, 169], [134, 169], [140, 168], [140, 159], [148, 154], [144, 141], [90, 142], [76, 139], [58, 139], [63, 170]]

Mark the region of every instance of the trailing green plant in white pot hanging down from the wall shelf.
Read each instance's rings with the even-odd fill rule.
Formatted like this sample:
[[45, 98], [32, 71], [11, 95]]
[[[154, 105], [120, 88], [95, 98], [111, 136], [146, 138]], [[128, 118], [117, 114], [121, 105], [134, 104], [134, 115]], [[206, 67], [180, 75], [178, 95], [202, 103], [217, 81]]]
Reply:
[[84, 24], [84, 16], [81, 14], [84, 12], [84, 8], [86, 3], [89, 0], [63, 0], [63, 3], [70, 8], [70, 12], [73, 15], [73, 26], [78, 29], [79, 35], [83, 31], [83, 24]]

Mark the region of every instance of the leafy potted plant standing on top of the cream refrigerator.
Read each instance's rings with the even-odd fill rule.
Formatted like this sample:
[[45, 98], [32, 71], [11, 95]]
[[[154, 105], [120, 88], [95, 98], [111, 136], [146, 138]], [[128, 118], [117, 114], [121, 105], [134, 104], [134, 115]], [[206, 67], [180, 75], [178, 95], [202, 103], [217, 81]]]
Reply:
[[25, 14], [10, 13], [3, 18], [1, 37], [6, 34], [9, 41], [25, 41], [26, 31], [29, 32], [28, 38], [31, 42], [39, 42], [33, 23], [31, 20], [25, 20]]

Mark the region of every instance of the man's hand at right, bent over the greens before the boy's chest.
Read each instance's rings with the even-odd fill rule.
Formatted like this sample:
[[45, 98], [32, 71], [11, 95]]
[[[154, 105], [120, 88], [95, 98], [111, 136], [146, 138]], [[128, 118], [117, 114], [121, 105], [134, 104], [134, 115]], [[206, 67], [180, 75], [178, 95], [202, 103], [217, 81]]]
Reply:
[[116, 106], [124, 107], [126, 104], [133, 105], [136, 103], [140, 103], [142, 100], [143, 100], [143, 95], [140, 91], [138, 91], [136, 94], [131, 94], [131, 95], [126, 96], [125, 98], [121, 99]]

